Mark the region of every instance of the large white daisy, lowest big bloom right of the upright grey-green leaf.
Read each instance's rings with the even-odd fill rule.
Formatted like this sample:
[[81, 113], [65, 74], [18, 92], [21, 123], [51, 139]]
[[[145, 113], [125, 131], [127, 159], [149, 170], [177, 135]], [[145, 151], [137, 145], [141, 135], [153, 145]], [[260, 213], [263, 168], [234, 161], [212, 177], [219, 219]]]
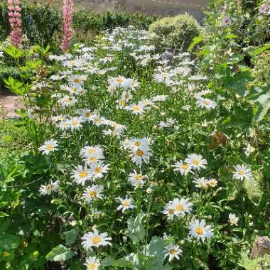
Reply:
[[205, 242], [205, 238], [211, 238], [212, 227], [210, 225], [205, 225], [205, 220], [192, 220], [189, 225], [190, 236], [195, 237], [198, 240], [201, 239], [202, 242]]

